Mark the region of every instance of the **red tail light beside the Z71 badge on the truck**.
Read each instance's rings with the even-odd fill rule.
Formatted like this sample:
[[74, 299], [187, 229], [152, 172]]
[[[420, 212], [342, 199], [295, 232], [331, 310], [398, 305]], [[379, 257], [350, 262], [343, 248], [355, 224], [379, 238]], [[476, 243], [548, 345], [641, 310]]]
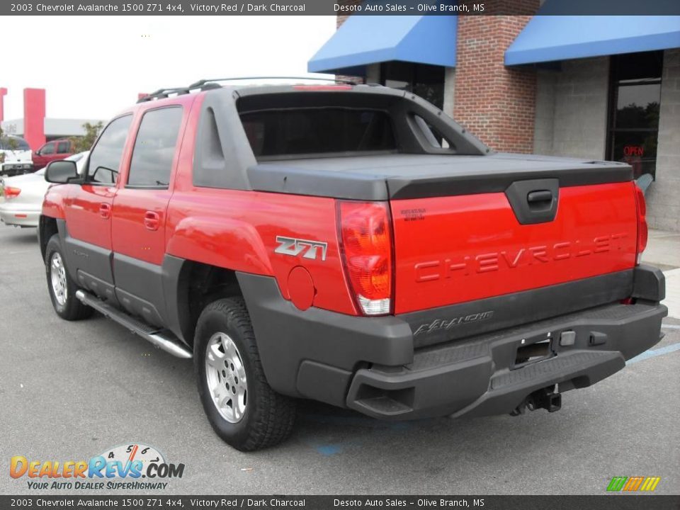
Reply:
[[338, 202], [340, 245], [349, 287], [364, 315], [392, 312], [392, 229], [385, 202]]

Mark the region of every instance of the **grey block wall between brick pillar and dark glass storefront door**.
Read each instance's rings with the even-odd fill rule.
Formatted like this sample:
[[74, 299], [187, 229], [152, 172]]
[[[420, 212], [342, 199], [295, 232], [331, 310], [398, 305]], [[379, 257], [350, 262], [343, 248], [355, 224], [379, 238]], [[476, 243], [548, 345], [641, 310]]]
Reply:
[[560, 71], [539, 71], [534, 152], [605, 157], [609, 57], [566, 60]]

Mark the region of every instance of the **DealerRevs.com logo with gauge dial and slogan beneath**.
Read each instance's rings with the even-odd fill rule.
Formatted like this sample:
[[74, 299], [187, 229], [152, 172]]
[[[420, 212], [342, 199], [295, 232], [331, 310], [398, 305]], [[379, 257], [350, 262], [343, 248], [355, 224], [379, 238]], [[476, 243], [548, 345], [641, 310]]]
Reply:
[[164, 480], [183, 474], [183, 464], [167, 463], [156, 448], [140, 443], [116, 446], [89, 460], [35, 460], [15, 455], [9, 465], [9, 475], [28, 479], [29, 489], [157, 490], [168, 486]]

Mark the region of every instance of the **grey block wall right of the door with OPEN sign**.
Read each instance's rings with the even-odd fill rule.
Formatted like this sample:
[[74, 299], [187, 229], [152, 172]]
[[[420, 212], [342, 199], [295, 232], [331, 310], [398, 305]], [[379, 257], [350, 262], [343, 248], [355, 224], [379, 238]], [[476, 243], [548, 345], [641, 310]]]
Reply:
[[645, 198], [650, 227], [680, 232], [680, 49], [664, 52], [657, 180]]

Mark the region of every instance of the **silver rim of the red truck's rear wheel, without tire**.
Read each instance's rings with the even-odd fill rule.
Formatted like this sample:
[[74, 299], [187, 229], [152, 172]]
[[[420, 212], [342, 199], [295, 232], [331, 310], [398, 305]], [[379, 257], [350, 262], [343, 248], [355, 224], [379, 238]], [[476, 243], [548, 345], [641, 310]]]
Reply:
[[241, 353], [226, 333], [215, 333], [205, 349], [205, 378], [212, 403], [229, 423], [238, 423], [246, 412], [248, 384]]

